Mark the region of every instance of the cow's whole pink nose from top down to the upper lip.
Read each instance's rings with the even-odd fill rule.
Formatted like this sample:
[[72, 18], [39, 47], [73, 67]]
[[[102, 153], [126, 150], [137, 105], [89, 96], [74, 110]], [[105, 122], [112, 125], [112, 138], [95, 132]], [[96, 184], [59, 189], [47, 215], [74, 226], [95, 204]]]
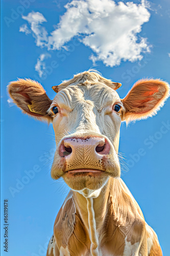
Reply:
[[104, 155], [110, 152], [109, 142], [102, 137], [65, 138], [59, 146], [65, 172], [74, 169], [105, 170]]

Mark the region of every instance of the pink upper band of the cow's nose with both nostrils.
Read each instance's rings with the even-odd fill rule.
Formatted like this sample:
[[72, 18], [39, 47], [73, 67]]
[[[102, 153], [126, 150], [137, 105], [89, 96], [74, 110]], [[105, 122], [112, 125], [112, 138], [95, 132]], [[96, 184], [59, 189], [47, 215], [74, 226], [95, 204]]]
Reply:
[[102, 137], [68, 138], [62, 141], [59, 147], [60, 156], [68, 156], [76, 151], [89, 151], [97, 155], [108, 155], [110, 152], [109, 142]]

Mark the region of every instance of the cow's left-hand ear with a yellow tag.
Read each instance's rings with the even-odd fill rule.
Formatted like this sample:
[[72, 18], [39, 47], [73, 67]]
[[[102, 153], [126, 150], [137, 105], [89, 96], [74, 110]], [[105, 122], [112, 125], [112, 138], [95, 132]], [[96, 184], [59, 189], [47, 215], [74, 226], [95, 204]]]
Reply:
[[45, 90], [37, 81], [18, 79], [9, 84], [8, 92], [23, 113], [39, 120], [52, 121], [52, 118], [47, 113], [52, 100], [48, 98]]

